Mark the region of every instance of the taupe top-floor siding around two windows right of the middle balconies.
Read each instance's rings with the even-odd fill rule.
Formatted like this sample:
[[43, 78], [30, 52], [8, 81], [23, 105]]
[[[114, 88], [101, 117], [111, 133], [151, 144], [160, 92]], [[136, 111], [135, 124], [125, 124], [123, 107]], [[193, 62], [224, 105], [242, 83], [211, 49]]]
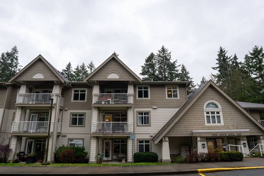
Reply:
[[137, 85], [134, 86], [134, 92], [135, 108], [151, 108], [152, 106], [158, 108], [180, 108], [186, 101], [186, 90], [184, 86], [179, 86], [179, 99], [166, 99], [165, 85], [150, 85], [150, 99], [137, 99]]

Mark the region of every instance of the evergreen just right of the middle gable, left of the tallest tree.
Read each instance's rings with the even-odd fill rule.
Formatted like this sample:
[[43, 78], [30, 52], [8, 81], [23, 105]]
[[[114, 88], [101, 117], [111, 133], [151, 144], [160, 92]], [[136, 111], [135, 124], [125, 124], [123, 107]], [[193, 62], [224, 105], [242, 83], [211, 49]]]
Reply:
[[144, 78], [143, 81], [159, 81], [156, 72], [156, 58], [154, 53], [150, 53], [145, 59], [144, 65], [141, 66], [141, 73]]

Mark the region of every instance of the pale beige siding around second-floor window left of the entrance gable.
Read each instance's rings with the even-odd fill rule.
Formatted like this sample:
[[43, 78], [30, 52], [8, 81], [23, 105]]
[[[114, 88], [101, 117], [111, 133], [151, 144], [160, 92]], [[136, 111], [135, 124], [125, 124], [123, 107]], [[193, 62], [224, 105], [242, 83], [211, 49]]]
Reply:
[[[138, 114], [137, 112], [150, 111], [150, 126], [138, 126]], [[158, 109], [148, 109], [148, 108], [138, 108], [135, 109], [134, 124], [136, 134], [148, 134], [148, 136], [155, 134], [160, 130], [160, 128], [168, 122], [169, 119], [178, 111], [174, 108], [158, 108]]]

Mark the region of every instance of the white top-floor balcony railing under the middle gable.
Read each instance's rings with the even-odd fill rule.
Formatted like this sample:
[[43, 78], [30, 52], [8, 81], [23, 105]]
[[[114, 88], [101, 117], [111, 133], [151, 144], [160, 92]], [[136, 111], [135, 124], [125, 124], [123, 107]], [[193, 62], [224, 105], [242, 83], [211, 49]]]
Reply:
[[93, 104], [133, 104], [132, 93], [94, 93]]

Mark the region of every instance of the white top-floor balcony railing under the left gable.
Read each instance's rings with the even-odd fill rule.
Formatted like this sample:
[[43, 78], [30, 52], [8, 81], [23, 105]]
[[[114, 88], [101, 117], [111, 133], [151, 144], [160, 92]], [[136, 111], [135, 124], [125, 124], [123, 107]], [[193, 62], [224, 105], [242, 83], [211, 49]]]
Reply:
[[18, 93], [16, 103], [45, 104], [50, 103], [51, 98], [56, 102], [54, 93]]

